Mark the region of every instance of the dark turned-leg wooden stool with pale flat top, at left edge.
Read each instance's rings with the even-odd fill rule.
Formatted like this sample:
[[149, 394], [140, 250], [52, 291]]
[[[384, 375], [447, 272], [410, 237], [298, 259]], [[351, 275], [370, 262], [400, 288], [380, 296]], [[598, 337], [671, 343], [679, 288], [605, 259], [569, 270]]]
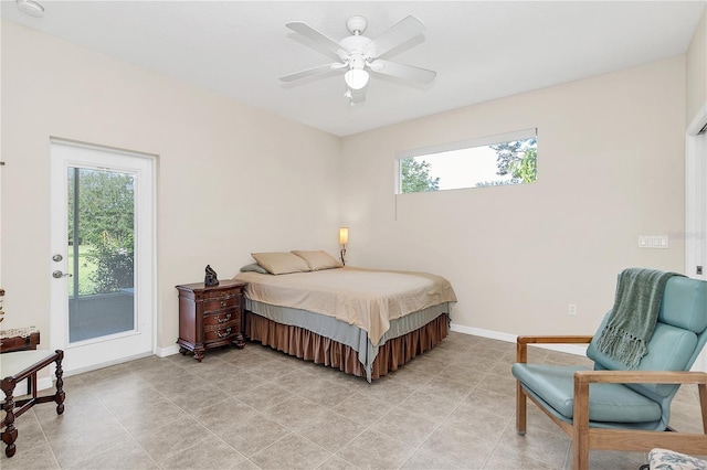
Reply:
[[[4, 419], [0, 424], [0, 428], [4, 428], [2, 441], [8, 446], [4, 453], [8, 457], [14, 456], [14, 441], [18, 438], [18, 429], [14, 427], [14, 419], [24, 412], [36, 405], [38, 403], [55, 402], [56, 414], [64, 413], [64, 381], [62, 380], [64, 371], [62, 370], [62, 361], [64, 360], [64, 351], [56, 350], [54, 352], [48, 350], [34, 351], [15, 351], [2, 356], [0, 361], [0, 377], [2, 384], [0, 387], [4, 393], [4, 402], [2, 409], [6, 413]], [[51, 363], [56, 363], [56, 393], [49, 396], [36, 396], [36, 373], [46, 367]], [[30, 398], [14, 400], [14, 387], [18, 382], [25, 378], [32, 378], [32, 393]]]

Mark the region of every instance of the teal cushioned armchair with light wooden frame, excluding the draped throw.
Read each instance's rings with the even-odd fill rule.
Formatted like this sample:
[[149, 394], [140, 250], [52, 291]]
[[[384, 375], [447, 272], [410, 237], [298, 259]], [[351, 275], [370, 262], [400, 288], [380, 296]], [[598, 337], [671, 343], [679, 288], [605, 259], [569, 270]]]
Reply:
[[[650, 451], [656, 447], [707, 455], [707, 373], [688, 372], [707, 342], [707, 282], [672, 277], [665, 284], [647, 354], [627, 368], [600, 351], [594, 337], [518, 337], [516, 429], [526, 432], [529, 398], [572, 439], [572, 468], [589, 466], [589, 450]], [[589, 343], [594, 368], [528, 364], [528, 344]], [[668, 427], [682, 384], [698, 387], [701, 434]], [[667, 431], [667, 432], [666, 432]]]

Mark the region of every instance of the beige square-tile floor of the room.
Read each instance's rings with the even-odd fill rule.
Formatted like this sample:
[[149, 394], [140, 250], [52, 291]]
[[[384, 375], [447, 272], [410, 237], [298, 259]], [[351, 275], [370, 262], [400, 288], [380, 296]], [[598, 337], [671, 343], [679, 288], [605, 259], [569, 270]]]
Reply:
[[[584, 363], [532, 348], [530, 361]], [[569, 469], [570, 441], [529, 405], [515, 431], [515, 345], [451, 333], [368, 384], [249, 343], [66, 377], [66, 410], [17, 421], [12, 469]], [[697, 391], [672, 425], [700, 431]], [[592, 469], [637, 469], [643, 452], [592, 451]]]

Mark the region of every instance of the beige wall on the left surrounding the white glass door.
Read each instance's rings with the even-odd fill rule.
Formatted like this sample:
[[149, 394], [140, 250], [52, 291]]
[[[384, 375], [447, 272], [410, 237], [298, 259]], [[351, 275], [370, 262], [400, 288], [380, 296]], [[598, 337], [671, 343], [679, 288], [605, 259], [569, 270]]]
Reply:
[[230, 278], [251, 252], [338, 248], [338, 138], [3, 21], [3, 328], [49, 332], [50, 136], [159, 156], [160, 348], [173, 286], [207, 264]]

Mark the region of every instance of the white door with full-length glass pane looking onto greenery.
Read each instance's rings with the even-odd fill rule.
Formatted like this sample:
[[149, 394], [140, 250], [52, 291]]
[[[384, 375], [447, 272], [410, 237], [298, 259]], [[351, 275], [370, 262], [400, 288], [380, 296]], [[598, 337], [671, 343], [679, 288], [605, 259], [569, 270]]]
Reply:
[[77, 373], [152, 354], [154, 158], [52, 140], [51, 348]]

